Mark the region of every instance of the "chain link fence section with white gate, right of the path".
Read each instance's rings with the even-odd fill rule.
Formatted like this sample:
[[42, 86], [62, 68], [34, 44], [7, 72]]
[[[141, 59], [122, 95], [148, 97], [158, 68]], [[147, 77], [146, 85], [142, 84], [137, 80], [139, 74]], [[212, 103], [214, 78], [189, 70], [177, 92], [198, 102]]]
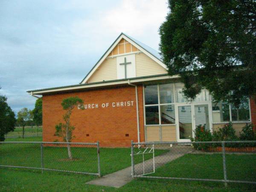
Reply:
[[132, 141], [131, 164], [132, 177], [256, 184], [256, 141]]

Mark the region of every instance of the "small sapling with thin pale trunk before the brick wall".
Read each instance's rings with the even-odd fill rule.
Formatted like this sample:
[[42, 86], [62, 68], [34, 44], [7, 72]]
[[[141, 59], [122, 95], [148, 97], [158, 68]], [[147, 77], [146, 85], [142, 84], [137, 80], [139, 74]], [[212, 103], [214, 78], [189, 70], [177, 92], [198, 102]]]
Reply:
[[[54, 136], [62, 137], [63, 140], [67, 143], [71, 142], [71, 140], [73, 139], [72, 131], [75, 129], [75, 127], [72, 126], [70, 123], [71, 112], [76, 106], [82, 105], [82, 104], [83, 104], [83, 100], [77, 96], [69, 97], [67, 99], [62, 100], [61, 105], [63, 109], [66, 110], [66, 113], [63, 115], [63, 119], [65, 123], [59, 123], [58, 125], [55, 125], [56, 131]], [[68, 152], [69, 159], [72, 160], [72, 154], [71, 154], [69, 144], [67, 144], [67, 152]]]

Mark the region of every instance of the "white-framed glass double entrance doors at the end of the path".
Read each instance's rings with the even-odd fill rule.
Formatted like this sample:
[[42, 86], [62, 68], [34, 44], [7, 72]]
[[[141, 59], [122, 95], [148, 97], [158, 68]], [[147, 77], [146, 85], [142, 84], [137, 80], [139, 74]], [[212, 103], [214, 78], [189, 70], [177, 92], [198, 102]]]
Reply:
[[177, 105], [177, 140], [190, 141], [197, 126], [204, 126], [206, 130], [210, 130], [209, 112], [208, 103]]

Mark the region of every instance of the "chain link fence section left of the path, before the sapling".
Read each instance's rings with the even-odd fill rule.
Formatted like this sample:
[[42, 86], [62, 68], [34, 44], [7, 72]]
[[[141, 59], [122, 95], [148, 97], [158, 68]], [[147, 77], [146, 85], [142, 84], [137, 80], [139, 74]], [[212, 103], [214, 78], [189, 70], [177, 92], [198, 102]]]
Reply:
[[[68, 148], [70, 148], [70, 153]], [[0, 142], [0, 167], [100, 173], [99, 142]]]

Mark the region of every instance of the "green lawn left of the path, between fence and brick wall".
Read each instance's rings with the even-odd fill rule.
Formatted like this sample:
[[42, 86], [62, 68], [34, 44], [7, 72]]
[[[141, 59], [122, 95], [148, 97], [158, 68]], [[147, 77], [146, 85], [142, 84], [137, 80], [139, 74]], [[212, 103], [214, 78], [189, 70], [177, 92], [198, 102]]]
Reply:
[[[39, 140], [40, 138], [18, 138], [18, 141]], [[9, 139], [6, 141], [14, 141]], [[41, 139], [40, 139], [41, 140]], [[67, 147], [44, 147], [44, 168], [77, 172], [98, 172], [97, 148], [72, 147], [73, 161], [68, 160]], [[155, 150], [159, 155], [165, 150]], [[106, 175], [131, 166], [131, 148], [100, 148], [101, 174]], [[145, 156], [145, 159], [152, 155]], [[142, 162], [142, 159], [139, 162]], [[0, 164], [41, 168], [40, 143], [5, 143], [0, 145]], [[40, 172], [40, 170], [38, 170]]]

